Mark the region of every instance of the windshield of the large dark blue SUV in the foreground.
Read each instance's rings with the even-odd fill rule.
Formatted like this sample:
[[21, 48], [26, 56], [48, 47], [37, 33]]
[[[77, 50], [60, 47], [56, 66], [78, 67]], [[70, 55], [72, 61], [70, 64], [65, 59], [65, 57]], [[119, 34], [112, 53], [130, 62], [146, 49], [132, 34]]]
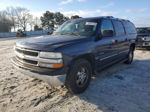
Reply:
[[97, 20], [71, 20], [62, 24], [54, 35], [92, 36], [96, 33]]

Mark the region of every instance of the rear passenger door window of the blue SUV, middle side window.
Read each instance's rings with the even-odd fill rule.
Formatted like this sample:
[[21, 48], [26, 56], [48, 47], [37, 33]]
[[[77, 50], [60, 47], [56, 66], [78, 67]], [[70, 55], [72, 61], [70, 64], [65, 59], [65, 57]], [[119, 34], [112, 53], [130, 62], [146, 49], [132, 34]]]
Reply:
[[123, 27], [123, 24], [120, 21], [113, 20], [114, 28], [116, 31], [116, 36], [122, 36], [125, 35], [125, 30]]

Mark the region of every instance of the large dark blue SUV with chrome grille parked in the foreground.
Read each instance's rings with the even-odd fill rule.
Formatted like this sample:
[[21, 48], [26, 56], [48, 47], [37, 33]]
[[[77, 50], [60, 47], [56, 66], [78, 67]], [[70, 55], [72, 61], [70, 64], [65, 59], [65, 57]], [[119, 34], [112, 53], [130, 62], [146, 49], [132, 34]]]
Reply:
[[128, 20], [113, 17], [69, 20], [51, 36], [19, 41], [14, 66], [50, 85], [65, 84], [74, 94], [83, 92], [91, 77], [124, 61], [131, 64], [136, 29]]

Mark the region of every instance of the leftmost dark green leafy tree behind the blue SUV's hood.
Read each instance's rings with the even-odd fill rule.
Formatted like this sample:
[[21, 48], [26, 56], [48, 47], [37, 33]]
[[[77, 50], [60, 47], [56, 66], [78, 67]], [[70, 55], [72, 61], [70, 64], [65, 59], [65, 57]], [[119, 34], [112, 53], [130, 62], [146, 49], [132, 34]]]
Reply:
[[42, 27], [46, 29], [54, 29], [54, 13], [46, 11], [41, 17]]

